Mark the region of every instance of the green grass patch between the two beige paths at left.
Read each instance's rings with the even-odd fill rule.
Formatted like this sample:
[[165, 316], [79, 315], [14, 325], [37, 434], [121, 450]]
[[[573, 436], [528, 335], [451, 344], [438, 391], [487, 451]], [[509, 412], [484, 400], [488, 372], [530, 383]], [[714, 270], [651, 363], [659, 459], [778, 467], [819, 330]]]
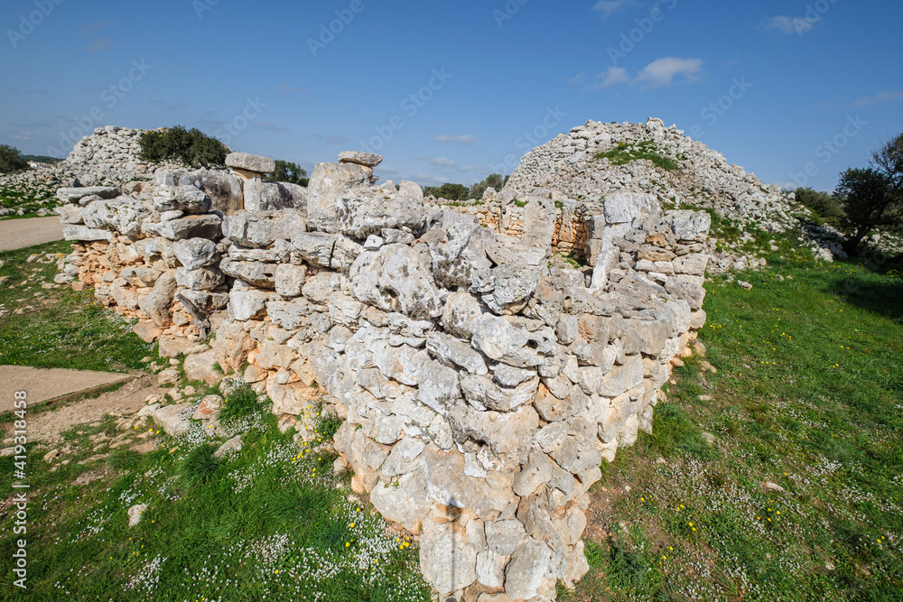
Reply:
[[53, 282], [56, 262], [27, 262], [30, 255], [70, 251], [69, 243], [58, 242], [0, 253], [0, 365], [113, 372], [144, 368], [144, 357], [156, 357], [154, 345], [132, 332], [132, 321], [106, 310], [93, 288], [42, 289], [42, 283]]

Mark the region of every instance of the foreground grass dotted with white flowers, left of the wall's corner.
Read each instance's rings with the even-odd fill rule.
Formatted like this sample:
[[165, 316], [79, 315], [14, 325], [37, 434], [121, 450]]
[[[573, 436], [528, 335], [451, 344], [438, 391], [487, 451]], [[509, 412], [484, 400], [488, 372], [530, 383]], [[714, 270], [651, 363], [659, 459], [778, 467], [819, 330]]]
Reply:
[[[114, 418], [77, 427], [60, 458], [70, 463], [56, 462], [55, 472], [31, 444], [29, 590], [5, 579], [0, 599], [427, 602], [417, 552], [386, 533], [370, 506], [348, 501], [348, 483], [332, 474], [335, 456], [293, 443], [272, 414], [247, 419], [244, 449], [219, 460], [212, 452], [223, 438], [211, 440], [197, 423], [177, 439], [158, 436], [146, 455], [108, 447], [122, 433]], [[127, 436], [146, 431], [144, 423]], [[98, 433], [108, 439], [92, 441]], [[7, 475], [13, 460], [0, 458]], [[72, 484], [88, 471], [102, 477]], [[11, 493], [5, 479], [0, 495]], [[129, 527], [137, 504], [148, 508]], [[16, 538], [0, 534], [7, 573]]]

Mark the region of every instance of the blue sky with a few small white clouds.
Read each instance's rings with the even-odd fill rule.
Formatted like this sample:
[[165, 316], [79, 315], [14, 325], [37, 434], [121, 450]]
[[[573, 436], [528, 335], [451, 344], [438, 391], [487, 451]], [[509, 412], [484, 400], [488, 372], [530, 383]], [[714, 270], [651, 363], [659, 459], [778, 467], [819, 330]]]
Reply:
[[384, 179], [470, 184], [589, 119], [657, 116], [764, 181], [832, 190], [903, 131], [891, 0], [5, 0], [0, 18], [0, 144], [23, 153], [181, 124], [308, 169], [370, 149]]

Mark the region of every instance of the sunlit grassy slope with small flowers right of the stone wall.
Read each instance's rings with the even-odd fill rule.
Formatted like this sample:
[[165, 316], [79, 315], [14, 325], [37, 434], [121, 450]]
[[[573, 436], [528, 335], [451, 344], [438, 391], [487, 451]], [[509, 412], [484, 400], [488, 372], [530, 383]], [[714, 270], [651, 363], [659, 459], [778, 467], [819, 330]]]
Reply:
[[751, 291], [707, 283], [707, 357], [675, 369], [654, 434], [603, 467], [594, 568], [563, 599], [901, 599], [901, 271], [785, 242], [740, 276]]

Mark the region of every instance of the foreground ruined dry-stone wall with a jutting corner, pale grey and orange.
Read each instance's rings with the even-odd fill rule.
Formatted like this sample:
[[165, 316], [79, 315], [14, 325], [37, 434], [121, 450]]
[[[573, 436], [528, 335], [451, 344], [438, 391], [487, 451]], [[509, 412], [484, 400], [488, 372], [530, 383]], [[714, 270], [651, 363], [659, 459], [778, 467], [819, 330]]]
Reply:
[[342, 153], [306, 190], [237, 154], [228, 172], [60, 190], [75, 241], [60, 281], [93, 286], [163, 355], [194, 347], [195, 364], [240, 373], [300, 439], [305, 408], [330, 406], [336, 468], [419, 533], [442, 596], [552, 600], [588, 570], [600, 463], [651, 430], [703, 327], [710, 218], [644, 194], [557, 207], [536, 189], [503, 226], [413, 182], [377, 186], [380, 161]]

